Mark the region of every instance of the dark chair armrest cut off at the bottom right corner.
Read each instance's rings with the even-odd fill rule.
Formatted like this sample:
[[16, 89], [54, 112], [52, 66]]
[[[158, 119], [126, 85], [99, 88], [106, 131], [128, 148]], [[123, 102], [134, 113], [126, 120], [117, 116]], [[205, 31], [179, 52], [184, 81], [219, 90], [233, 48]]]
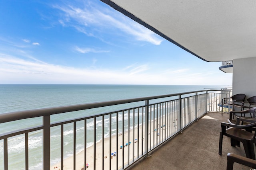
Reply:
[[234, 162], [249, 166], [251, 168], [256, 168], [256, 160], [239, 156], [236, 154], [228, 153], [227, 155], [227, 170], [233, 170]]

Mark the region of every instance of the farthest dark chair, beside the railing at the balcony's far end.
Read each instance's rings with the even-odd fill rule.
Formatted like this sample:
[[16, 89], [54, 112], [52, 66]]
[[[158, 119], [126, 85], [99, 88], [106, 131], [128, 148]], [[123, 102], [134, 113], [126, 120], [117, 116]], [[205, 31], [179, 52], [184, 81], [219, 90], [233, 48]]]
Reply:
[[221, 100], [221, 115], [223, 113], [223, 105], [231, 105], [232, 110], [234, 111], [234, 106], [242, 106], [242, 103], [244, 102], [246, 95], [245, 94], [235, 94], [234, 96], [231, 96], [230, 98], [223, 98]]

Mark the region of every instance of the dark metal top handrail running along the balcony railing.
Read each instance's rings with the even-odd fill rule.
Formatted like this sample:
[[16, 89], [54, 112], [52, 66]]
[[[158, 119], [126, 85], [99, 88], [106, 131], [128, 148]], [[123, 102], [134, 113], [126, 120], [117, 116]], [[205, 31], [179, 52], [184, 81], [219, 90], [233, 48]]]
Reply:
[[145, 101], [145, 100], [154, 100], [154, 99], [159, 99], [159, 98], [168, 98], [168, 97], [172, 97], [172, 96], [180, 96], [180, 95], [185, 95], [185, 94], [192, 94], [192, 93], [206, 92], [206, 91], [226, 91], [226, 90], [216, 90], [216, 89], [215, 90], [214, 89], [213, 90], [198, 90], [198, 91], [192, 91], [192, 92], [183, 92], [183, 93], [151, 96], [151, 97], [144, 97], [144, 98], [113, 100], [113, 101], [108, 101], [108, 102], [96, 102], [96, 103], [89, 103], [89, 104], [78, 104], [78, 105], [70, 105], [70, 106], [60, 106], [60, 107], [50, 107], [50, 108], [42, 108], [42, 109], [15, 111], [15, 112], [0, 114], [0, 123], [16, 121], [16, 120], [20, 120], [20, 119], [33, 118], [33, 117], [54, 115], [54, 114], [58, 114], [58, 113], [66, 113], [66, 112], [71, 112], [71, 111], [79, 111], [79, 110], [84, 110], [84, 109], [92, 109], [92, 108], [105, 107], [105, 106], [114, 106], [114, 105], [119, 105], [119, 104], [141, 102], [141, 101]]

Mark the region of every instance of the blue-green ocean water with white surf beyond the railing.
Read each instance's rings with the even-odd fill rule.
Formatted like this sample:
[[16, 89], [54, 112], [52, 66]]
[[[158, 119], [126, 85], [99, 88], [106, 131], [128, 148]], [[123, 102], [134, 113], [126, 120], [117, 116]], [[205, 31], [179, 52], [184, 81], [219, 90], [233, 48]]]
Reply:
[[[21, 111], [29, 109], [39, 109], [56, 106], [68, 106], [75, 104], [86, 104], [93, 102], [105, 102], [110, 100], [123, 100], [130, 98], [141, 98], [149, 96], [159, 96], [165, 94], [175, 94], [180, 92], [191, 92], [205, 89], [220, 89], [227, 86], [178, 86], [178, 85], [70, 85], [70, 84], [0, 84], [0, 114], [12, 111]], [[114, 106], [113, 106], [114, 107]], [[99, 110], [100, 111], [100, 110]], [[104, 111], [102, 111], [104, 112]], [[77, 115], [75, 115], [77, 114]], [[90, 115], [95, 112], [77, 112], [65, 113], [62, 115], [54, 115], [52, 121], [60, 119], [70, 119], [74, 116]], [[113, 117], [114, 118], [114, 117]], [[114, 118], [115, 119], [115, 118]], [[125, 115], [128, 119], [128, 115]], [[104, 122], [108, 124], [108, 117]], [[102, 120], [97, 120], [96, 125], [100, 125]], [[114, 123], [114, 122], [113, 122]], [[0, 133], [10, 131], [10, 129], [22, 129], [28, 126], [41, 125], [42, 118], [26, 119], [10, 123], [0, 124]], [[92, 121], [87, 121], [86, 129], [89, 130], [88, 136], [92, 138], [93, 129]], [[108, 131], [108, 127], [105, 127]], [[72, 124], [64, 126], [64, 145], [65, 148], [72, 148], [73, 143]], [[101, 138], [101, 131], [97, 134], [98, 139]], [[51, 129], [51, 164], [60, 161], [60, 128]], [[84, 148], [83, 145], [83, 122], [78, 122], [76, 127], [76, 152]], [[115, 131], [112, 134], [116, 133]], [[105, 133], [104, 137], [109, 134]], [[29, 162], [31, 170], [42, 169], [42, 154], [38, 150], [42, 150], [42, 131], [36, 131], [29, 135]], [[92, 141], [88, 141], [87, 147], [92, 145]], [[3, 161], [3, 141], [0, 140], [0, 162]], [[72, 156], [72, 150], [64, 150], [64, 157]], [[8, 139], [8, 162], [10, 169], [24, 169], [24, 135]], [[0, 170], [3, 167], [0, 163]]]

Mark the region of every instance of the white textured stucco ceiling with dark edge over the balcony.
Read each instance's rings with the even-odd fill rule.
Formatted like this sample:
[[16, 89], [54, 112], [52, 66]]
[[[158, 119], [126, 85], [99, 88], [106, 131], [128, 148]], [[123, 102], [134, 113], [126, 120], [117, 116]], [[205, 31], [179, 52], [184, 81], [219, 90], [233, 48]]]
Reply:
[[102, 0], [205, 61], [256, 57], [255, 0]]

